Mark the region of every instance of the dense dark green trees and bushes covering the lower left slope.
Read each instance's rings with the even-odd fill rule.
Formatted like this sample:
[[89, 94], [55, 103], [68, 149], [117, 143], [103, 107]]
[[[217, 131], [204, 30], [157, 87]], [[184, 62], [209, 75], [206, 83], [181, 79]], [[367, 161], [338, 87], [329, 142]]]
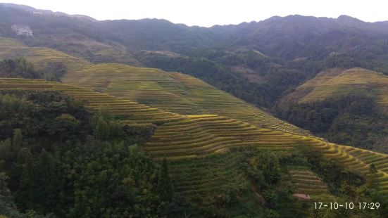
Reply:
[[0, 107], [0, 214], [154, 217], [170, 210], [167, 162], [144, 155], [110, 113], [93, 116], [50, 91], [3, 93]]

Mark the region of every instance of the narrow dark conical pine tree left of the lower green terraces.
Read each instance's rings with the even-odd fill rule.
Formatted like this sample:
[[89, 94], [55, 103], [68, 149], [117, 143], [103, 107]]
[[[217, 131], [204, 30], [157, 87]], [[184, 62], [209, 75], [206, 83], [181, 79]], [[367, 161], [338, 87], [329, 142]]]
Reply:
[[173, 181], [171, 181], [170, 173], [168, 170], [168, 162], [163, 158], [161, 171], [158, 177], [158, 193], [161, 195], [161, 199], [170, 201], [173, 199], [174, 194]]

